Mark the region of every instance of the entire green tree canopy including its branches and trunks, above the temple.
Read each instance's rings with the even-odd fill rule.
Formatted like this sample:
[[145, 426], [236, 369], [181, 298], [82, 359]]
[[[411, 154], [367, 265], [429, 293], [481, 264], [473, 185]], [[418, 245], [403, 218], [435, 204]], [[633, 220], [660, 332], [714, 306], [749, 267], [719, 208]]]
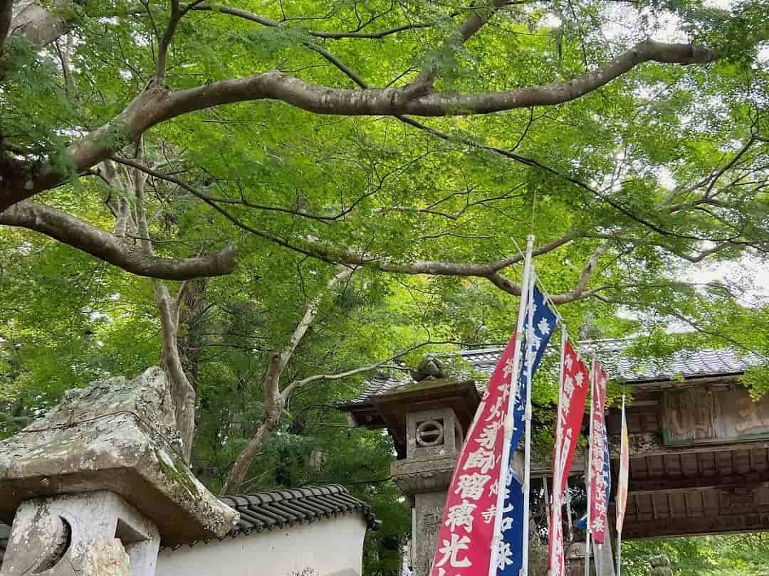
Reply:
[[758, 0], [0, 0], [0, 434], [162, 362], [211, 488], [358, 487], [394, 569], [391, 445], [333, 403], [504, 342], [530, 233], [574, 336], [769, 354], [767, 39]]

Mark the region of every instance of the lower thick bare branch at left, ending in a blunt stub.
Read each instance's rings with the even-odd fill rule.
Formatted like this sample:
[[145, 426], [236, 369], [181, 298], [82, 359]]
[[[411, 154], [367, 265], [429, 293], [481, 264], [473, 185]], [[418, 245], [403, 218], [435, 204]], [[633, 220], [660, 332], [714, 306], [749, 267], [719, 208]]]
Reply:
[[235, 254], [231, 248], [194, 258], [148, 256], [129, 240], [44, 204], [19, 202], [0, 213], [0, 224], [44, 233], [138, 276], [188, 280], [223, 276], [235, 270]]

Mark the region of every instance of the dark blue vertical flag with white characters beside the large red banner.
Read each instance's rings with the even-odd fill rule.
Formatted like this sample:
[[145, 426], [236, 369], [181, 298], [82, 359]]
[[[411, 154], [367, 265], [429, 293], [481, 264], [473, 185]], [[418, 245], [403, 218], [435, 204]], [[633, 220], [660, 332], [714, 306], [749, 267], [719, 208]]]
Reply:
[[532, 303], [527, 311], [524, 326], [529, 326], [524, 339], [524, 362], [521, 366], [521, 377], [513, 407], [513, 432], [510, 438], [510, 458], [508, 458], [508, 477], [504, 490], [501, 524], [501, 539], [494, 559], [497, 562], [498, 576], [519, 576], [523, 567], [524, 542], [524, 482], [513, 471], [512, 462], [515, 449], [524, 433], [524, 412], [530, 376], [534, 376], [544, 349], [548, 346], [550, 336], [556, 324], [555, 313], [550, 310], [544, 294], [532, 282]]

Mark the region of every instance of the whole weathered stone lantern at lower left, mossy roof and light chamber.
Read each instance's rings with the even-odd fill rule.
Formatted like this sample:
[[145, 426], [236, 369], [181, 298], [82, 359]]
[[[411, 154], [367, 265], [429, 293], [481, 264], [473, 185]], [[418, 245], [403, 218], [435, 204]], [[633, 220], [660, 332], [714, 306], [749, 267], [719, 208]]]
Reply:
[[153, 576], [161, 541], [225, 536], [237, 513], [178, 449], [161, 369], [69, 392], [0, 443], [0, 576]]

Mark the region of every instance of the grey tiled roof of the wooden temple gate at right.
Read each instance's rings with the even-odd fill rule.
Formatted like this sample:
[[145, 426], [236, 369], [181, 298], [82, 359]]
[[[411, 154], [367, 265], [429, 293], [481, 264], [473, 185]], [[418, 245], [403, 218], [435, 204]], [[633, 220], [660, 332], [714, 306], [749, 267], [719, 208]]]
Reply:
[[[583, 353], [594, 352], [612, 379], [628, 384], [741, 374], [750, 366], [766, 363], [766, 360], [760, 356], [755, 354], [740, 356], [731, 349], [681, 350], [665, 359], [638, 362], [624, 353], [631, 343], [631, 339], [598, 340], [580, 343], [580, 349]], [[461, 350], [453, 356], [460, 356], [475, 371], [491, 374], [499, 361], [501, 352], [501, 346], [494, 346]], [[387, 374], [377, 374], [369, 380], [360, 396], [345, 402], [340, 407], [344, 409], [366, 404], [371, 398], [408, 382], [411, 382], [408, 376], [396, 378]], [[486, 382], [478, 382], [479, 388], [485, 386]]]

